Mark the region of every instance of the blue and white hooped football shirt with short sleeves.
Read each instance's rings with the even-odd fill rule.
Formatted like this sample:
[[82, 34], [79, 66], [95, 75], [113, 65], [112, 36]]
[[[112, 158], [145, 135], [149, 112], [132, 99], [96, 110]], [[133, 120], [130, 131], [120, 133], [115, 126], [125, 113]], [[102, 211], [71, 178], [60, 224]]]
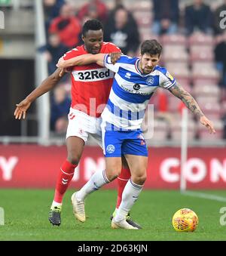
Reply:
[[104, 65], [115, 72], [115, 79], [102, 112], [103, 123], [126, 130], [139, 129], [154, 91], [175, 85], [176, 80], [163, 67], [155, 66], [151, 73], [142, 74], [138, 69], [139, 61], [138, 57], [122, 55], [113, 65], [111, 57], [105, 55]]

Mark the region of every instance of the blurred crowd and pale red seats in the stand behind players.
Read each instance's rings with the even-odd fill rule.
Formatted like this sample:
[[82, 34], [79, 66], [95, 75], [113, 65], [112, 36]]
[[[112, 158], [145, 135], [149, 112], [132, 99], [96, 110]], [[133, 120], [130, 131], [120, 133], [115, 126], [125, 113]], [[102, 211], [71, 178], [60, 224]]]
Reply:
[[[142, 40], [158, 39], [163, 45], [160, 65], [166, 66], [197, 99], [216, 124], [218, 137], [226, 138], [226, 0], [214, 1], [213, 5], [204, 0], [191, 0], [188, 5], [179, 0], [131, 1], [130, 7], [123, 0], [111, 1], [111, 7], [103, 0], [82, 3], [78, 8], [73, 0], [43, 0], [47, 45], [39, 51], [45, 53], [49, 73], [66, 51], [83, 43], [81, 27], [89, 19], [101, 20], [104, 41], [115, 43], [131, 57], [139, 54]], [[52, 94], [51, 130], [55, 134], [66, 132], [69, 86], [66, 76]], [[151, 98], [160, 140], [179, 139], [184, 106], [171, 98], [166, 90], [157, 91]], [[189, 118], [191, 139], [206, 140], [208, 135], [197, 120]]]

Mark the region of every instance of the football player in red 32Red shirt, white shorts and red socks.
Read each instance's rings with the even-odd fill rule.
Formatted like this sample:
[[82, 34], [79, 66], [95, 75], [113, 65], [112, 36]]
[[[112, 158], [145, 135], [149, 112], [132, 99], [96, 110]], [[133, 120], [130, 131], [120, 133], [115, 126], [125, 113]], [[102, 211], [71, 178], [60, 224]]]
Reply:
[[[121, 56], [121, 50], [110, 42], [103, 42], [103, 28], [99, 20], [87, 20], [82, 28], [82, 39], [84, 45], [78, 46], [64, 55], [64, 60], [81, 54], [112, 54], [112, 62]], [[117, 54], [118, 52], [118, 54]], [[109, 92], [114, 78], [114, 73], [105, 67], [92, 63], [86, 66], [73, 66], [67, 70], [71, 72], [72, 79], [72, 105], [69, 111], [69, 125], [66, 133], [67, 159], [60, 168], [52, 205], [50, 207], [49, 221], [53, 225], [60, 226], [63, 196], [72, 180], [75, 168], [81, 159], [84, 145], [88, 137], [92, 136], [102, 146], [101, 140], [101, 113], [108, 100]], [[50, 91], [66, 70], [58, 68], [53, 74], [45, 79], [38, 88], [35, 88], [23, 101], [17, 104], [14, 116], [16, 119], [25, 119], [26, 110], [31, 103], [42, 94]], [[130, 179], [130, 169], [126, 160], [118, 177], [118, 200], [115, 208], [117, 211], [121, 203], [121, 195], [127, 180]], [[114, 212], [114, 214], [115, 214]], [[113, 214], [113, 215], [114, 215]], [[112, 217], [112, 216], [111, 216]], [[85, 217], [80, 220], [85, 221]], [[139, 224], [132, 221], [130, 215], [127, 222], [134, 227], [141, 228]]]

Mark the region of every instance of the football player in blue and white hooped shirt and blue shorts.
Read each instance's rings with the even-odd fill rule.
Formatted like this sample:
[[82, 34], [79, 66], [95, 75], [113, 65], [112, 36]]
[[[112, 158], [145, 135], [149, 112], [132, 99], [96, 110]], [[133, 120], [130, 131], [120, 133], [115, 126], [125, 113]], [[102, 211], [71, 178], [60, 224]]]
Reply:
[[124, 155], [130, 166], [131, 178], [124, 189], [121, 205], [111, 221], [113, 228], [136, 229], [127, 223], [126, 216], [145, 183], [148, 150], [140, 128], [145, 108], [157, 88], [166, 88], [179, 97], [200, 118], [200, 122], [209, 128], [210, 133], [215, 133], [212, 122], [204, 116], [194, 97], [165, 68], [157, 66], [161, 51], [162, 47], [156, 40], [146, 40], [141, 45], [140, 58], [122, 55], [116, 63], [111, 63], [109, 54], [87, 54], [71, 60], [60, 60], [58, 63], [61, 67], [97, 63], [115, 72], [108, 104], [102, 113], [106, 170], [93, 174], [76, 193], [77, 201], [74, 205], [79, 214], [79, 207], [88, 194], [114, 180], [120, 174], [121, 156]]

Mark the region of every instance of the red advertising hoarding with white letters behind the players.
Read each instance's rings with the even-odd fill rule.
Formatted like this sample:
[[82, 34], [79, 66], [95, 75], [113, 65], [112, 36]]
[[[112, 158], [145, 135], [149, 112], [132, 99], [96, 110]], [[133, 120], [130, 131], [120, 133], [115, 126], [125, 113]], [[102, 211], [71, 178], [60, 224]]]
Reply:
[[[0, 187], [53, 188], [66, 159], [65, 146], [0, 145]], [[71, 187], [79, 188], [94, 171], [105, 168], [99, 147], [85, 147]], [[185, 166], [189, 189], [225, 189], [226, 148], [189, 148]], [[149, 148], [146, 189], [178, 189], [180, 149]], [[115, 187], [115, 183], [107, 188]]]

